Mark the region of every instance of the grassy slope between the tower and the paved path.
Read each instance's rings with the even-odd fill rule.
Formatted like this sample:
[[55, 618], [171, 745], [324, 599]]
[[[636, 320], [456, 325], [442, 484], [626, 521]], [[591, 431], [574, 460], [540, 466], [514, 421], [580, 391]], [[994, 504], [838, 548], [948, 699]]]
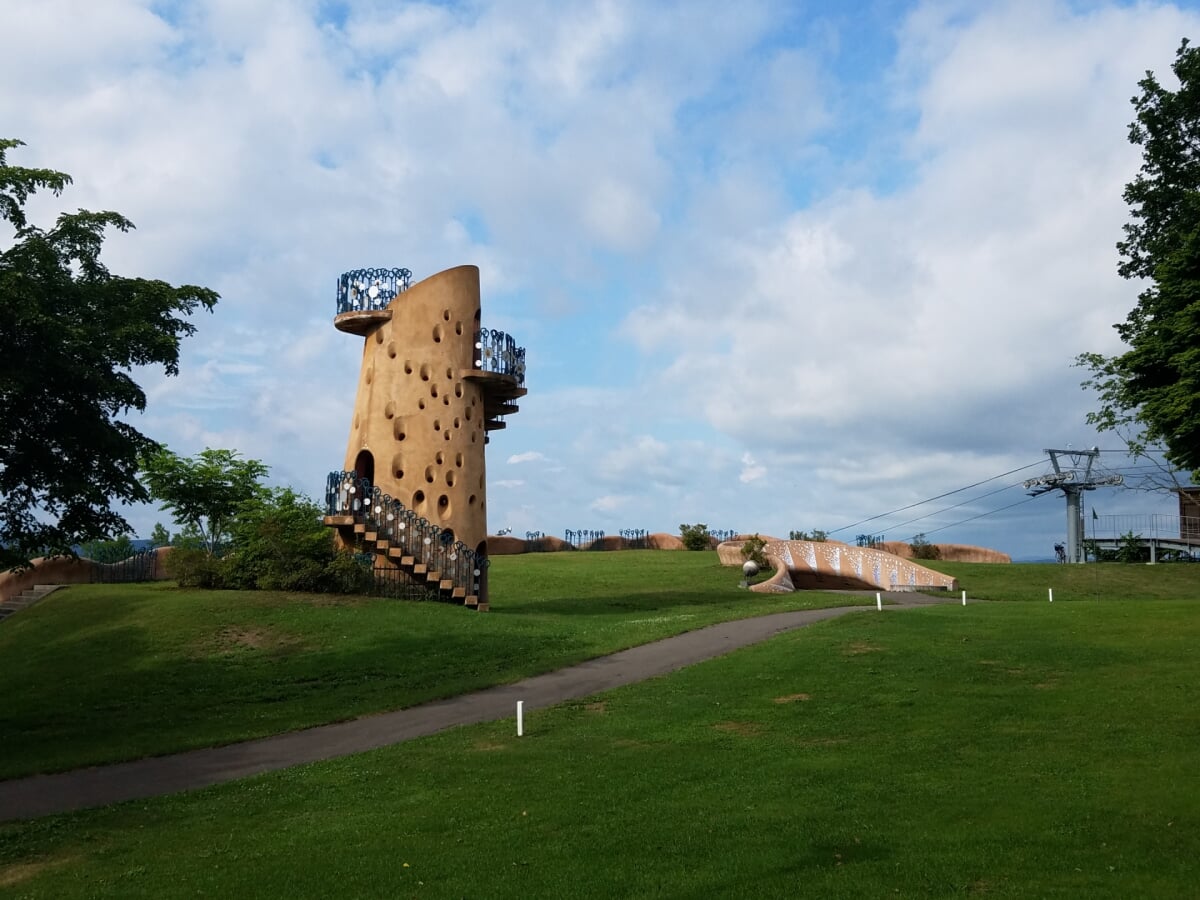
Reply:
[[499, 557], [492, 612], [72, 587], [0, 625], [0, 778], [211, 746], [518, 680], [714, 622], [854, 602], [740, 590], [715, 553]]

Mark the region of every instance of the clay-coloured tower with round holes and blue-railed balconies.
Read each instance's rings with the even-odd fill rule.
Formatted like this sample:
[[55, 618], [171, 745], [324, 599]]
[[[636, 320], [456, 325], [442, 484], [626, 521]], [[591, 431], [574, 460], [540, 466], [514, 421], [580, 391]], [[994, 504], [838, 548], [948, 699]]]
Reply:
[[334, 325], [364, 347], [326, 523], [383, 565], [486, 610], [484, 445], [526, 394], [524, 349], [480, 325], [476, 266], [408, 280], [407, 269], [338, 280]]

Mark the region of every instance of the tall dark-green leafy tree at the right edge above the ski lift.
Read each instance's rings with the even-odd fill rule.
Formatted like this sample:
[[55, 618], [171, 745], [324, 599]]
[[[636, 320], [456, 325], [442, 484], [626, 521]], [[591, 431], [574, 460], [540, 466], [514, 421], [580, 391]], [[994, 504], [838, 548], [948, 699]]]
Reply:
[[1200, 53], [1184, 40], [1172, 71], [1178, 90], [1152, 72], [1138, 84], [1129, 140], [1142, 166], [1126, 186], [1133, 221], [1117, 244], [1126, 278], [1148, 284], [1123, 323], [1129, 347], [1117, 356], [1085, 353], [1085, 388], [1100, 408], [1087, 416], [1102, 431], [1134, 432], [1134, 444], [1160, 443], [1168, 461], [1200, 474]]

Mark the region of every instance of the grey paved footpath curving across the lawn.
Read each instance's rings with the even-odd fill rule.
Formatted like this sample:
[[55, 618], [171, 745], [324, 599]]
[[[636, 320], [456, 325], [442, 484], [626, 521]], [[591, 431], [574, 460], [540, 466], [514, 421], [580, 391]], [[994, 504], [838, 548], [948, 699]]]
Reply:
[[[910, 593], [884, 596], [888, 605], [883, 608], [887, 611], [953, 600]], [[540, 709], [566, 700], [588, 697], [674, 672], [814, 622], [864, 611], [875, 612], [875, 607], [798, 610], [724, 622], [600, 656], [558, 672], [410, 709], [320, 725], [241, 744], [0, 781], [0, 822], [192, 791], [290, 766], [374, 750], [457, 725], [496, 721], [514, 716], [518, 700], [524, 701], [526, 709]]]

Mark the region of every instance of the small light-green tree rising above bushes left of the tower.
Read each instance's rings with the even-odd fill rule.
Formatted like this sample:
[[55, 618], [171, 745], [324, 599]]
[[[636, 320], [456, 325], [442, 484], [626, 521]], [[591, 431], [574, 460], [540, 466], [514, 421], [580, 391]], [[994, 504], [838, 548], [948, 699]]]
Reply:
[[239, 505], [265, 496], [266, 472], [258, 460], [239, 458], [236, 450], [205, 449], [187, 458], [158, 448], [142, 463], [150, 496], [174, 515], [175, 524], [194, 529], [210, 554], [228, 539]]

